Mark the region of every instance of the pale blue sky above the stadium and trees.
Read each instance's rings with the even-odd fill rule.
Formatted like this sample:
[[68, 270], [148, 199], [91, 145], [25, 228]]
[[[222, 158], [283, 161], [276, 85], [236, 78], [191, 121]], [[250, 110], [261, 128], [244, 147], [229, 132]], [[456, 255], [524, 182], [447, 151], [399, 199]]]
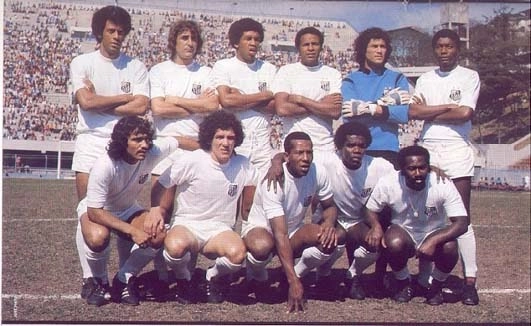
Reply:
[[[160, 0], [159, 0], [160, 1]], [[431, 3], [415, 3], [409, 0], [405, 6], [402, 1], [279, 1], [279, 0], [177, 0], [178, 7], [199, 9], [225, 8], [233, 13], [261, 15], [281, 15], [291, 17], [322, 17], [342, 19], [348, 21], [357, 31], [378, 26], [384, 29], [395, 29], [404, 26], [416, 26], [431, 31], [433, 26], [440, 23], [440, 8], [438, 1]], [[455, 1], [458, 2], [458, 1]], [[465, 1], [466, 3], [466, 1]], [[529, 9], [529, 3], [468, 3], [469, 18], [483, 21], [484, 16], [491, 17], [495, 9], [508, 7], [514, 13]]]

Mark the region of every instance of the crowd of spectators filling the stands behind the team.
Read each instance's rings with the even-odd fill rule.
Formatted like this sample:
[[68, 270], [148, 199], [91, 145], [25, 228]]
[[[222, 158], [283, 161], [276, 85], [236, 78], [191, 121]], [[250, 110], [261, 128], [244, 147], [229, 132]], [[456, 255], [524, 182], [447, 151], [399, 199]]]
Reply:
[[[96, 43], [90, 35], [74, 37], [72, 27], [88, 26], [95, 7], [23, 1], [9, 1], [5, 6], [3, 138], [74, 140], [77, 112], [71, 103], [68, 65], [73, 57], [91, 51]], [[230, 15], [155, 9], [132, 9], [131, 13], [134, 31], [123, 49], [148, 69], [167, 58], [169, 25], [181, 18], [196, 20], [203, 30], [203, 52], [196, 58], [200, 64], [213, 66], [232, 56], [226, 38], [234, 20]], [[329, 45], [325, 44], [321, 53], [322, 62], [340, 70], [343, 76], [357, 68], [350, 48], [355, 33], [344, 22], [271, 17], [263, 17], [261, 22], [266, 26], [266, 38], [273, 43], [292, 42], [296, 31], [305, 26], [323, 29]], [[274, 33], [268, 35], [269, 30]], [[343, 44], [343, 48], [338, 44]], [[297, 61], [295, 52], [264, 50], [259, 56], [277, 67]], [[278, 123], [275, 118], [273, 125], [280, 130]], [[401, 134], [411, 133], [415, 138], [418, 130], [413, 122], [402, 126]]]

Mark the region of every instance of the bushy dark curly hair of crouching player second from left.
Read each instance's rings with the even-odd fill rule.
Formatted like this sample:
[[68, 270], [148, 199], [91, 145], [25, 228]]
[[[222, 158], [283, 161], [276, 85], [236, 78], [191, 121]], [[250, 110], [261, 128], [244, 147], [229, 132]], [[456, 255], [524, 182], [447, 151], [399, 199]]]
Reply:
[[201, 149], [205, 151], [211, 150], [212, 140], [218, 129], [232, 129], [234, 131], [236, 135], [234, 147], [238, 147], [243, 143], [245, 135], [240, 120], [233, 113], [220, 110], [209, 114], [199, 125], [199, 147]]

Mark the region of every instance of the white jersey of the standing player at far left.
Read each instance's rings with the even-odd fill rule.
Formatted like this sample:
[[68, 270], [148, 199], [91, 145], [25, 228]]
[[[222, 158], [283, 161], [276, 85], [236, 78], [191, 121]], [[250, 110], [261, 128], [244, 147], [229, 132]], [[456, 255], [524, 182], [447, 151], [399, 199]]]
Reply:
[[[146, 66], [137, 59], [120, 53], [116, 59], [109, 59], [94, 51], [75, 57], [70, 63], [70, 81], [74, 94], [85, 87], [83, 80], [94, 85], [96, 94], [113, 96], [119, 94], [143, 95], [149, 97], [149, 79]], [[112, 129], [120, 116], [108, 111], [86, 111], [77, 105], [79, 122], [77, 133], [91, 133], [111, 137]]]

